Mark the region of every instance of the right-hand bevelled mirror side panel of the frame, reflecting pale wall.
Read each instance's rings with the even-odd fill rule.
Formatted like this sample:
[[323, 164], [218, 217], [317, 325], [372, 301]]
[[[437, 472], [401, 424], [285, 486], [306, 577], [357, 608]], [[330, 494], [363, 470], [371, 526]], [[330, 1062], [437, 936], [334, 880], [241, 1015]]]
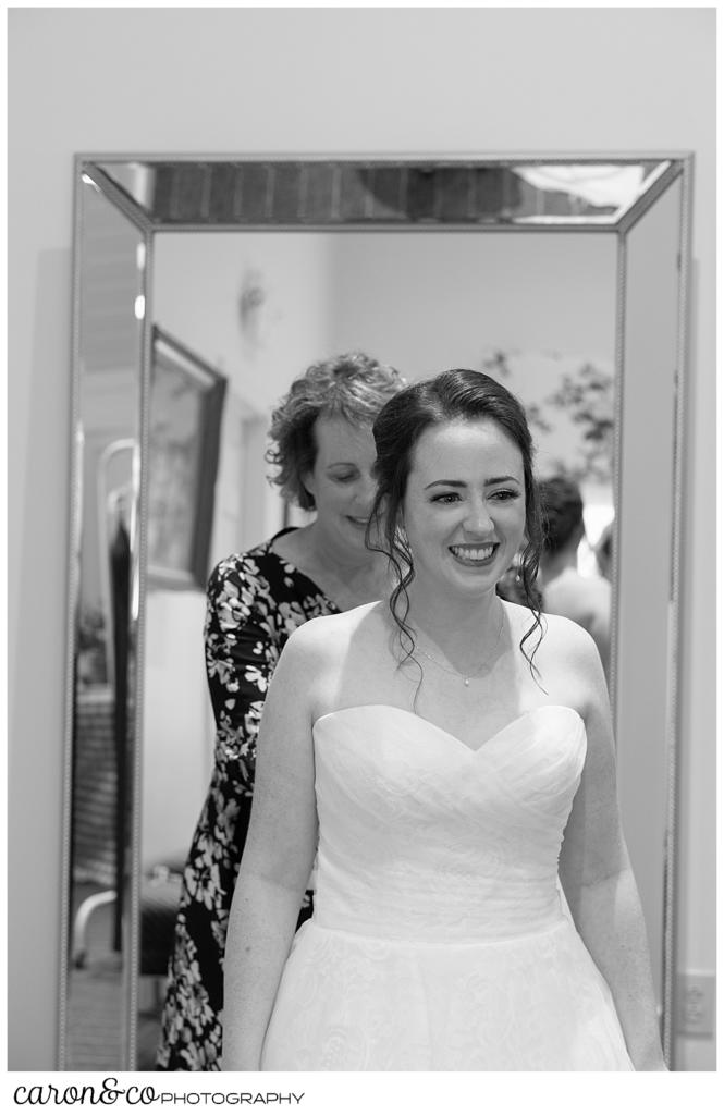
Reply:
[[669, 1064], [678, 595], [677, 501], [672, 493], [677, 491], [682, 191], [679, 176], [624, 230], [620, 242], [625, 292], [617, 501], [617, 767], [624, 832], [649, 931]]

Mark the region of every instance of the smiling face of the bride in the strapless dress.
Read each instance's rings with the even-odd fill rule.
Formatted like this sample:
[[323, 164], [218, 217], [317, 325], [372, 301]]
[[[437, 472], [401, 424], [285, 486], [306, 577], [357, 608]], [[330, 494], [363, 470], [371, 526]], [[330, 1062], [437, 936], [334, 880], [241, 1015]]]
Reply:
[[490, 418], [428, 426], [413, 450], [403, 522], [421, 591], [493, 591], [525, 532], [520, 449]]

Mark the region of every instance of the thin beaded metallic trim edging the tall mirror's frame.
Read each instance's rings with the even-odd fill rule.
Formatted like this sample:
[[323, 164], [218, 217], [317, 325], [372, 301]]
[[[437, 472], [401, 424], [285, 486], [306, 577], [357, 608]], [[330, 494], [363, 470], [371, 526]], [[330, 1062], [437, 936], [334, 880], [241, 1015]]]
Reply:
[[[424, 173], [434, 173], [436, 169], [448, 171], [451, 168], [473, 167], [473, 168], [496, 168], [500, 173], [508, 173], [513, 166], [549, 166], [551, 164], [640, 164], [662, 163], [662, 172], [655, 176], [653, 184], [634, 202], [626, 206], [620, 213], [608, 217], [604, 223], [590, 216], [571, 216], [569, 220], [557, 219], [547, 221], [543, 216], [535, 223], [530, 220], [517, 221], [510, 215], [501, 220], [488, 221], [473, 217], [463, 222], [452, 222], [450, 220], [429, 219], [423, 216], [411, 219], [376, 220], [374, 217], [364, 221], [345, 221], [338, 216], [335, 221], [315, 220], [241, 220], [219, 221], [206, 216], [201, 219], [174, 219], [168, 220], [163, 216], [156, 217], [148, 210], [144, 209], [119, 185], [109, 173], [122, 164], [145, 164], [154, 169], [163, 167], [187, 167], [199, 166], [204, 168], [214, 167], [215, 164], [233, 164], [235, 167], [247, 164], [263, 164], [267, 167], [288, 167], [290, 164], [298, 164], [305, 167], [319, 166], [327, 163], [342, 171], [350, 167], [369, 168], [370, 166], [382, 166], [399, 168], [400, 166], [412, 167]], [[335, 231], [336, 229], [355, 229], [369, 231], [400, 231], [408, 227], [409, 231], [432, 232], [452, 231], [464, 227], [471, 233], [484, 234], [485, 232], [599, 232], [601, 234], [614, 234], [617, 237], [617, 265], [616, 265], [616, 329], [615, 329], [615, 440], [614, 440], [614, 464], [612, 464], [612, 488], [614, 506], [621, 506], [622, 478], [621, 478], [621, 439], [619, 436], [620, 423], [622, 418], [622, 384], [624, 384], [624, 337], [625, 337], [625, 299], [626, 299], [626, 236], [638, 220], [650, 209], [656, 200], [676, 180], [682, 181], [680, 209], [679, 209], [679, 270], [677, 291], [677, 341], [676, 341], [676, 369], [674, 372], [675, 390], [675, 446], [674, 446], [674, 484], [672, 492], [672, 550], [670, 550], [670, 591], [669, 591], [669, 628], [668, 628], [668, 689], [666, 707], [666, 762], [667, 762], [667, 802], [666, 802], [666, 844], [664, 851], [664, 911], [663, 911], [663, 979], [662, 979], [662, 1037], [664, 1055], [669, 1067], [673, 1067], [673, 1043], [674, 1043], [674, 1010], [675, 1010], [675, 958], [676, 958], [676, 899], [678, 893], [678, 769], [680, 760], [680, 723], [679, 723], [679, 675], [680, 660], [677, 653], [679, 640], [680, 622], [680, 592], [682, 592], [682, 493], [683, 493], [683, 463], [684, 463], [684, 432], [685, 432], [685, 399], [686, 399], [686, 370], [688, 356], [688, 314], [689, 314], [689, 272], [691, 272], [691, 241], [692, 241], [692, 177], [693, 177], [693, 154], [689, 152], [666, 152], [666, 153], [625, 153], [625, 154], [551, 154], [538, 153], [534, 155], [518, 155], [513, 153], [493, 154], [477, 157], [466, 155], [452, 156], [425, 156], [424, 158], [399, 158], [399, 157], [375, 157], [369, 156], [316, 156], [316, 155], [124, 155], [124, 154], [79, 154], [75, 157], [75, 220], [74, 220], [74, 309], [71, 329], [71, 460], [70, 460], [70, 530], [69, 530], [69, 574], [68, 574], [68, 621], [66, 642], [66, 692], [65, 692], [65, 721], [64, 721], [64, 783], [62, 783], [62, 847], [61, 847], [61, 888], [60, 888], [60, 987], [58, 1004], [58, 1068], [64, 1070], [67, 1061], [66, 1027], [68, 1021], [68, 983], [69, 983], [69, 947], [70, 947], [70, 924], [69, 910], [71, 901], [71, 807], [73, 807], [73, 748], [74, 748], [74, 661], [77, 647], [76, 614], [79, 600], [80, 585], [80, 537], [81, 537], [81, 483], [83, 483], [83, 426], [81, 426], [81, 382], [80, 382], [80, 301], [83, 291], [83, 186], [85, 181], [90, 181], [100, 193], [116, 206], [135, 227], [143, 234], [145, 244], [145, 316], [142, 330], [142, 351], [138, 355], [138, 367], [141, 370], [141, 415], [139, 415], [139, 443], [136, 453], [136, 536], [135, 545], [132, 546], [132, 609], [131, 609], [131, 636], [132, 646], [135, 647], [135, 694], [134, 694], [134, 740], [143, 738], [143, 677], [144, 677], [144, 623], [145, 623], [145, 592], [147, 582], [146, 563], [146, 512], [148, 507], [148, 435], [149, 435], [149, 377], [153, 348], [153, 314], [149, 311], [149, 291], [153, 283], [153, 241], [158, 232], [230, 232], [230, 231], [270, 231], [283, 229], [284, 231], [306, 230]], [[619, 639], [619, 569], [618, 555], [620, 554], [620, 515], [616, 515], [615, 522], [615, 544], [614, 544], [614, 569], [612, 569], [612, 597], [611, 597], [611, 658], [610, 658], [610, 702], [614, 714], [616, 712], [617, 696], [617, 669], [618, 669], [618, 639]], [[131, 850], [128, 855], [129, 873], [126, 880], [126, 891], [123, 896], [123, 909], [125, 911], [124, 927], [124, 1065], [125, 1068], [135, 1068], [136, 1047], [136, 1019], [138, 1007], [137, 976], [139, 964], [139, 873], [141, 873], [141, 747], [134, 747], [132, 762], [132, 785], [129, 792], [131, 801]]]

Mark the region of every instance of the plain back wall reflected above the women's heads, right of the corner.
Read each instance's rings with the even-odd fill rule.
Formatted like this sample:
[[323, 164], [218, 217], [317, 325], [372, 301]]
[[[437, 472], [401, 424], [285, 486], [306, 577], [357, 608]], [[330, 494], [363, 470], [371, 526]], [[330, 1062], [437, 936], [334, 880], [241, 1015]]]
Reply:
[[347, 232], [335, 260], [336, 350], [369, 346], [411, 379], [480, 368], [491, 349], [612, 369], [612, 233]]

